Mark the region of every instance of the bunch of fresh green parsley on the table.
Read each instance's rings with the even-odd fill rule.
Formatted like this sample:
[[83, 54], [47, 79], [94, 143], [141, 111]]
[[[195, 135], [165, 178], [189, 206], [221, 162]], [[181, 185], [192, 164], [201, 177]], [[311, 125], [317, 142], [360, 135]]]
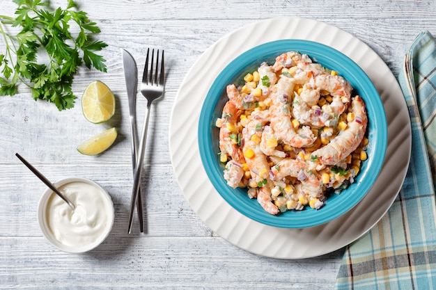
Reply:
[[[33, 99], [52, 102], [59, 111], [72, 108], [77, 68], [85, 63], [106, 72], [104, 58], [95, 51], [107, 44], [92, 38], [100, 29], [86, 13], [77, 11], [73, 0], [68, 0], [65, 9], [54, 11], [49, 10], [47, 0], [13, 1], [18, 6], [17, 17], [0, 15], [0, 37], [6, 43], [6, 52], [0, 54], [0, 95], [16, 95], [18, 84], [24, 83], [31, 88]], [[6, 32], [8, 25], [19, 32]]]

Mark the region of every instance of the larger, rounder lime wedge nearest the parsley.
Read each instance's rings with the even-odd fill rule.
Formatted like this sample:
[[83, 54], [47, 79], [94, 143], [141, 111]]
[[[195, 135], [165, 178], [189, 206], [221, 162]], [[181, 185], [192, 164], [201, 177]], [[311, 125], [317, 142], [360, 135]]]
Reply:
[[81, 96], [81, 110], [89, 122], [106, 122], [115, 113], [114, 94], [101, 81], [93, 81]]

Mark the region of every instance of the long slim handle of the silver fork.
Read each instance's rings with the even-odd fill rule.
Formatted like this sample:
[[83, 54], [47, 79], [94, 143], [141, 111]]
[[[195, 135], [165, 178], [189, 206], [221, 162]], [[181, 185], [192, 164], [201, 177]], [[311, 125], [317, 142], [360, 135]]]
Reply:
[[146, 120], [143, 122], [141, 142], [139, 143], [139, 152], [138, 152], [139, 155], [137, 156], [136, 168], [134, 170], [132, 200], [130, 201], [130, 211], [129, 211], [129, 234], [130, 234], [130, 231], [132, 230], [134, 207], [135, 207], [135, 204], [137, 203], [137, 198], [139, 195], [139, 188], [141, 187], [143, 157], [144, 157], [144, 153], [146, 152], [148, 120], [150, 120], [151, 103], [152, 102], [147, 103]]

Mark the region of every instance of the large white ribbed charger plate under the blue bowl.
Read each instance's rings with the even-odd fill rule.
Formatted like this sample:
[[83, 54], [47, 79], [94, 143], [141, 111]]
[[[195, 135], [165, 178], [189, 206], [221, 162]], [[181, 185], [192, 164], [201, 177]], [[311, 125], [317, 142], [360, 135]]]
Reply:
[[[212, 186], [198, 151], [198, 118], [205, 95], [221, 70], [242, 52], [281, 39], [320, 42], [355, 61], [373, 81], [388, 122], [388, 145], [382, 171], [356, 207], [330, 223], [305, 229], [263, 225], [242, 216]], [[244, 26], [207, 49], [178, 90], [169, 128], [171, 163], [185, 198], [219, 236], [265, 257], [299, 259], [338, 250], [367, 232], [394, 202], [405, 179], [412, 147], [410, 118], [400, 86], [389, 67], [354, 36], [313, 19], [284, 17]]]

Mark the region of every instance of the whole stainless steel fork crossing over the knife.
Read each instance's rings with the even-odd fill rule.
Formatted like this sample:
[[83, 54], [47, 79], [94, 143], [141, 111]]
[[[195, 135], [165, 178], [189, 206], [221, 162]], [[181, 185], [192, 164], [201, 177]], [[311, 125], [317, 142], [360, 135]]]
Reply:
[[148, 130], [148, 120], [150, 119], [150, 108], [153, 102], [160, 99], [164, 93], [164, 51], [162, 50], [162, 56], [160, 61], [159, 71], [159, 50], [156, 52], [155, 61], [155, 49], [151, 52], [150, 72], [148, 71], [148, 56], [150, 56], [150, 49], [147, 49], [146, 65], [143, 70], [141, 94], [147, 99], [147, 113], [146, 120], [143, 123], [141, 143], [139, 145], [139, 152], [137, 155], [136, 168], [134, 170], [133, 188], [132, 188], [132, 200], [130, 201], [129, 212], [129, 234], [132, 230], [134, 207], [137, 202], [139, 187], [141, 185], [141, 175], [143, 166], [143, 156], [146, 152], [146, 139]]

